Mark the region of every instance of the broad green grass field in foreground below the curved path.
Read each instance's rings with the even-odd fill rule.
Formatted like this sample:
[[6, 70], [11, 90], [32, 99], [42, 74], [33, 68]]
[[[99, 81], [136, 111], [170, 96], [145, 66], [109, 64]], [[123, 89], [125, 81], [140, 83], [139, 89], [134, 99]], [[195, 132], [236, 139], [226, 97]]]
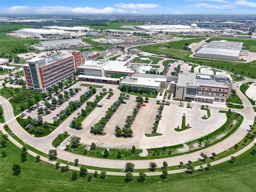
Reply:
[[[254, 149], [256, 147], [253, 147]], [[35, 157], [28, 155], [28, 160], [20, 162], [21, 149], [7, 141], [7, 157], [0, 158], [1, 191], [243, 191], [255, 189], [256, 172], [255, 156], [252, 150], [236, 157], [236, 163], [224, 162], [212, 166], [209, 171], [195, 171], [193, 174], [180, 173], [168, 175], [167, 180], [159, 176], [147, 177], [145, 183], [137, 182], [134, 177], [131, 183], [124, 182], [124, 177], [107, 176], [105, 180], [95, 178], [87, 182], [87, 177], [71, 181], [71, 174], [60, 173], [54, 165], [35, 162]], [[12, 175], [14, 163], [21, 166], [21, 174]]]

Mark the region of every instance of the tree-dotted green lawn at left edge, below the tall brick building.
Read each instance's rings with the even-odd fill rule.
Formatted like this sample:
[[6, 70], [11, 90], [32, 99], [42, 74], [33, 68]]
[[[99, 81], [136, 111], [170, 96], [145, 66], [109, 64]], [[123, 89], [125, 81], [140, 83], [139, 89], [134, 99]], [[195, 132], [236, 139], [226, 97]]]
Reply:
[[0, 90], [0, 95], [6, 99], [12, 97], [10, 102], [15, 116], [47, 97], [46, 94], [39, 93], [35, 90], [24, 90], [22, 88], [12, 87], [3, 87], [3, 89]]

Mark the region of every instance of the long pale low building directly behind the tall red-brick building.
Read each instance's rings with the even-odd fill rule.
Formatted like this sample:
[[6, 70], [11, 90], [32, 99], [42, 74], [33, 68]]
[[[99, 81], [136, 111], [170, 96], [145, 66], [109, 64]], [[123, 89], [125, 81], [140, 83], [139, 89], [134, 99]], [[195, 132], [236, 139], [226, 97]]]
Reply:
[[89, 46], [89, 44], [83, 42], [81, 38], [42, 41], [42, 42], [39, 42], [37, 45], [31, 45], [31, 47], [34, 47], [36, 50], [39, 50], [39, 51], [68, 49], [68, 48], [84, 47], [84, 46]]

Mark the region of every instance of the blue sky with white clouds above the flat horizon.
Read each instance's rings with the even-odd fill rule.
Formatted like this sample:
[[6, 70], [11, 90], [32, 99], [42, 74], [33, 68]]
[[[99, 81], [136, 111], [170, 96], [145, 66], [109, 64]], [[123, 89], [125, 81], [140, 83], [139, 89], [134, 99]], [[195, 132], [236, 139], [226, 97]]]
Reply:
[[1, 0], [5, 14], [255, 14], [256, 0]]

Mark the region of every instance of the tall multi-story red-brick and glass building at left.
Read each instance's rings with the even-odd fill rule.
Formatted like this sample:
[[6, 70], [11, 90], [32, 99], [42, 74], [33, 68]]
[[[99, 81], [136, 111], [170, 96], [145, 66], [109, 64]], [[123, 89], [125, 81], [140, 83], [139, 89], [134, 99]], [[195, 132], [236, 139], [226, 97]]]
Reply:
[[63, 51], [46, 58], [33, 58], [23, 66], [28, 88], [45, 92], [48, 87], [73, 77], [76, 68], [84, 63], [80, 51]]

